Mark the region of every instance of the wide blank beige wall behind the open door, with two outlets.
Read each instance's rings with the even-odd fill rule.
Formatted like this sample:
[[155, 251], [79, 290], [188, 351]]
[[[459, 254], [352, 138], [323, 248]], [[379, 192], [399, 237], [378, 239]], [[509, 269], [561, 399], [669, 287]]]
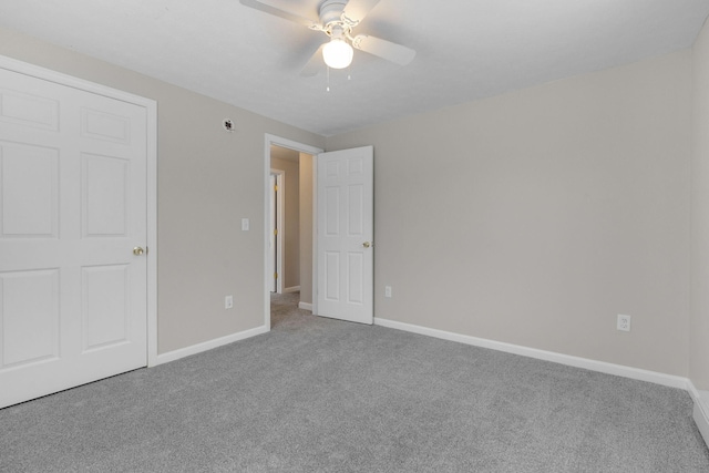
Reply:
[[684, 51], [328, 138], [374, 146], [376, 316], [687, 376], [690, 74]]

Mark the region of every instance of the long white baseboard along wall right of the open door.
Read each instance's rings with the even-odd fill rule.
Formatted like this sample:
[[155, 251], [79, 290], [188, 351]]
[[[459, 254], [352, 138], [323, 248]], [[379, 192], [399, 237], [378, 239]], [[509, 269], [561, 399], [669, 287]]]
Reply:
[[443, 340], [456, 341], [459, 343], [472, 345], [475, 347], [504, 351], [506, 353], [536, 358], [537, 360], [567, 364], [569, 367], [584, 368], [587, 370], [598, 371], [606, 374], [615, 374], [618, 377], [630, 378], [639, 381], [653, 382], [655, 384], [661, 384], [669, 388], [679, 388], [679, 389], [687, 390], [689, 385], [688, 384], [689, 380], [682, 377], [676, 377], [676, 376], [659, 373], [655, 371], [647, 371], [638, 368], [625, 367], [621, 364], [607, 363], [605, 361], [596, 361], [587, 358], [572, 357], [569, 354], [556, 353], [553, 351], [537, 350], [535, 348], [527, 348], [518, 345], [504, 343], [501, 341], [470, 337], [466, 335], [453, 333], [453, 332], [443, 331], [443, 330], [430, 329], [427, 327], [413, 326], [410, 323], [398, 322], [394, 320], [374, 318], [374, 325], [389, 327], [398, 330], [405, 330], [412, 333], [435, 337]]

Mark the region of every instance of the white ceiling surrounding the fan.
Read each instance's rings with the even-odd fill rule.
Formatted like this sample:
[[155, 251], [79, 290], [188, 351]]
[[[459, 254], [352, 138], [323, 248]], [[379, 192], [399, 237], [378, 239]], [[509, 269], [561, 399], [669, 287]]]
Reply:
[[[269, 0], [317, 18], [321, 0]], [[709, 0], [381, 0], [357, 27], [413, 48], [298, 75], [326, 37], [238, 0], [2, 0], [0, 25], [326, 136], [692, 44]], [[237, 124], [238, 126], [238, 124]]]

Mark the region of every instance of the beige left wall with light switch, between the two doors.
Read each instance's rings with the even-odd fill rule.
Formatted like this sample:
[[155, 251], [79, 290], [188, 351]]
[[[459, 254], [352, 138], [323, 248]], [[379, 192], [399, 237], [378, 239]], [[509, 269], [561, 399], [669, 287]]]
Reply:
[[[325, 140], [7, 29], [0, 54], [157, 101], [158, 351], [263, 326], [264, 134]], [[236, 132], [222, 128], [226, 117]]]

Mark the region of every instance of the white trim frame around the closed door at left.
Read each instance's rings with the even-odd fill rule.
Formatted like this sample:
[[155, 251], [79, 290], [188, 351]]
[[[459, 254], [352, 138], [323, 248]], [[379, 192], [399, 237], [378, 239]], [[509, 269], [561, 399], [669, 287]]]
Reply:
[[51, 69], [0, 55], [0, 68], [84, 92], [132, 103], [146, 111], [146, 218], [147, 218], [147, 367], [157, 362], [157, 102]]

